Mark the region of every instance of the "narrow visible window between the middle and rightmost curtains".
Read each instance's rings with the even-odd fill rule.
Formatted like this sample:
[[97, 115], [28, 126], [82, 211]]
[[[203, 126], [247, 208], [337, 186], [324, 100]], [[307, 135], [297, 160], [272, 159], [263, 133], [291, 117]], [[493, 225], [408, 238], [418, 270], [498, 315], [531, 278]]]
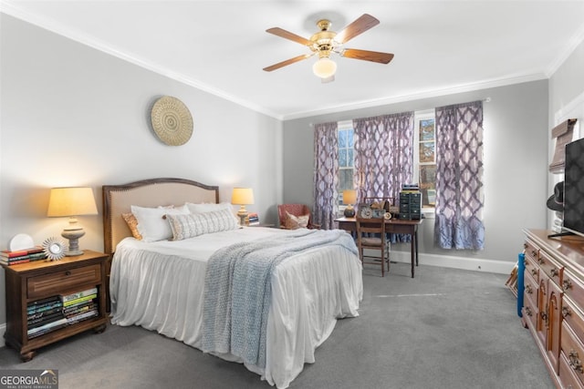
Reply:
[[433, 210], [436, 201], [436, 121], [434, 110], [415, 113], [413, 179], [422, 191], [422, 208]]

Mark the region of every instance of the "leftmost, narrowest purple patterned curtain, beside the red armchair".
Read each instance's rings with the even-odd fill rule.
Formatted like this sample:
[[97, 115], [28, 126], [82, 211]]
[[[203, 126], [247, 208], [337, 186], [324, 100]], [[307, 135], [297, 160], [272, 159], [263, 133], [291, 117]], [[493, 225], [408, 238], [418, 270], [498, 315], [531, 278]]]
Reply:
[[339, 211], [339, 134], [337, 122], [314, 128], [314, 209], [312, 217], [323, 230], [336, 228]]

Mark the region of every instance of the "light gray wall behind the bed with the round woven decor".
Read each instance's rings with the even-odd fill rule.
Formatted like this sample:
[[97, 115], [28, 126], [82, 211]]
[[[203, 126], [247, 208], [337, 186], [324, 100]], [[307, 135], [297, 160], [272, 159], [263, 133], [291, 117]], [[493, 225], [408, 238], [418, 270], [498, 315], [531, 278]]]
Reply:
[[[103, 250], [101, 185], [136, 179], [219, 185], [222, 201], [249, 186], [255, 205], [247, 209], [276, 222], [279, 120], [11, 16], [0, 14], [0, 26], [0, 250], [20, 232], [37, 243], [60, 237], [67, 219], [46, 217], [49, 189], [58, 186], [94, 189], [100, 214], [78, 218], [82, 249]], [[193, 115], [193, 137], [181, 147], [151, 131], [150, 107], [162, 95], [180, 98]], [[4, 279], [0, 270], [0, 330]]]

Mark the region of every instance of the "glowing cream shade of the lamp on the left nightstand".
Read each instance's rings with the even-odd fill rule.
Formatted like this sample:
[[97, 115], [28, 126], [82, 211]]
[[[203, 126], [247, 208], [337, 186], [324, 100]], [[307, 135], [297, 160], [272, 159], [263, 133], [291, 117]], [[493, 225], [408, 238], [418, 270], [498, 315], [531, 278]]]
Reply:
[[97, 215], [93, 189], [53, 188], [48, 200], [48, 217]]

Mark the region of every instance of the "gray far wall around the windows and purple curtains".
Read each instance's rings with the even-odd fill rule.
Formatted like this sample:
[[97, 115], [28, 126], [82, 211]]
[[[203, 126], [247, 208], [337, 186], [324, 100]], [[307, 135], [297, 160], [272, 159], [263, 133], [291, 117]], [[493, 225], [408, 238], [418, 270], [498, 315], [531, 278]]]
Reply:
[[[485, 264], [506, 261], [506, 267], [510, 270], [517, 253], [522, 250], [522, 229], [546, 226], [547, 96], [547, 80], [540, 80], [288, 120], [284, 123], [284, 200], [312, 203], [312, 125], [431, 109], [490, 97], [490, 102], [484, 104], [485, 250], [446, 251], [435, 248], [433, 219], [428, 219], [422, 223], [421, 262], [433, 264], [439, 261], [443, 265], [466, 269], [481, 266], [485, 270]], [[408, 251], [409, 246], [394, 245], [393, 250]], [[481, 261], [476, 261], [479, 259]]]

